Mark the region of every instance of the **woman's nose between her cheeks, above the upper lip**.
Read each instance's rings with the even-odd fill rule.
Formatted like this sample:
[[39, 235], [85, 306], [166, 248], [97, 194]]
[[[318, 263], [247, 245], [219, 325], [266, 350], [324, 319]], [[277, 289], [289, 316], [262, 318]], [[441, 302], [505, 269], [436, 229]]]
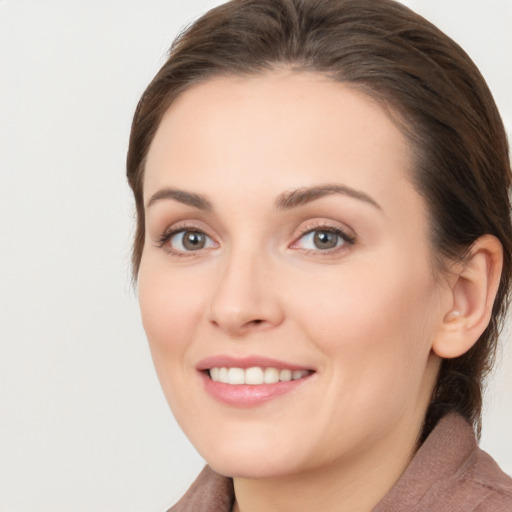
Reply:
[[211, 298], [209, 316], [215, 328], [231, 337], [278, 326], [284, 318], [274, 272], [257, 254], [239, 251], [224, 262]]

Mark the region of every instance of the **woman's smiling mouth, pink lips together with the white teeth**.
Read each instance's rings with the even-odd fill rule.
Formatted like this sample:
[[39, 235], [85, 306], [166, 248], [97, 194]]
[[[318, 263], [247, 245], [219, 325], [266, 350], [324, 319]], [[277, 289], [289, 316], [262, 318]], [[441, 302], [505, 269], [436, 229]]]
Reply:
[[292, 393], [313, 369], [274, 359], [215, 356], [197, 365], [206, 392], [224, 404], [252, 407]]

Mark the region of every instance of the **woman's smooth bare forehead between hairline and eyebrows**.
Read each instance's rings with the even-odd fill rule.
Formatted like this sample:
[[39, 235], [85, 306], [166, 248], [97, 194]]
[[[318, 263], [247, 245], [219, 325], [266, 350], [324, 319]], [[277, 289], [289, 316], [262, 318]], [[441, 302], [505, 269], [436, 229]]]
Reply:
[[222, 77], [187, 89], [165, 113], [146, 163], [145, 198], [179, 186], [208, 195], [339, 182], [376, 195], [407, 190], [409, 144], [379, 104], [311, 73]]

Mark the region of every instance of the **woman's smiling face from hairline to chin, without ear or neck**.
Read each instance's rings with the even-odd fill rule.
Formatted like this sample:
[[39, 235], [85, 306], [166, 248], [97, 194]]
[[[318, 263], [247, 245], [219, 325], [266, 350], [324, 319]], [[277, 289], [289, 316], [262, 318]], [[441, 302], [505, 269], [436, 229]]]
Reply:
[[411, 168], [384, 111], [322, 76], [214, 79], [165, 114], [140, 306], [167, 400], [216, 470], [410, 454], [446, 302]]

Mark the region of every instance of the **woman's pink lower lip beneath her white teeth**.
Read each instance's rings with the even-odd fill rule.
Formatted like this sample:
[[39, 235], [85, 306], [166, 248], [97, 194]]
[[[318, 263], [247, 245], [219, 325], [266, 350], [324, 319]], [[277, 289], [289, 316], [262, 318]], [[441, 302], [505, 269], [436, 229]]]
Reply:
[[295, 391], [299, 386], [309, 381], [310, 376], [302, 379], [290, 380], [286, 382], [276, 382], [275, 384], [224, 384], [216, 382], [201, 372], [206, 392], [227, 405], [234, 407], [255, 407], [269, 400], [278, 398], [287, 393]]

